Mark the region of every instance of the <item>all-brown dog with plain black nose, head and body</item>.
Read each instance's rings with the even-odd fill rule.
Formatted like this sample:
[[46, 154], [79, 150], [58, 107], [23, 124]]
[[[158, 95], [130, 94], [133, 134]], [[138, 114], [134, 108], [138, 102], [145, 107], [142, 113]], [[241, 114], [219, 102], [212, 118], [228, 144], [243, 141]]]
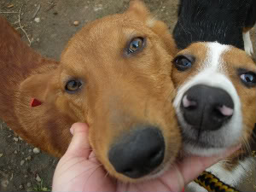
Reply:
[[0, 22], [0, 113], [17, 134], [60, 157], [70, 126], [86, 122], [97, 158], [125, 182], [154, 177], [172, 163], [181, 145], [172, 107], [174, 44], [142, 2], [85, 26], [60, 63]]

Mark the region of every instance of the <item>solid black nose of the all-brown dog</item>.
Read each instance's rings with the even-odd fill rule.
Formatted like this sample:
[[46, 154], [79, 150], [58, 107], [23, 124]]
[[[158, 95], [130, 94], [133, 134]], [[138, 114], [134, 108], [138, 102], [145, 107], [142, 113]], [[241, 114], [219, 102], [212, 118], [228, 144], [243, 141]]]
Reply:
[[165, 141], [156, 127], [138, 127], [114, 143], [108, 158], [116, 172], [138, 178], [152, 172], [164, 160]]

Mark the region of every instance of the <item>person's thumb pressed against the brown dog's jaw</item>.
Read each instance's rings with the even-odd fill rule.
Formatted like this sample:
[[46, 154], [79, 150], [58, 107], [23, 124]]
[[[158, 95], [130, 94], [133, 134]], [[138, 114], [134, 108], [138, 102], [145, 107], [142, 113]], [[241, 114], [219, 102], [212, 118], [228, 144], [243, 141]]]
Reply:
[[75, 123], [70, 128], [73, 138], [66, 155], [89, 158], [91, 148], [88, 139], [88, 126], [84, 123]]

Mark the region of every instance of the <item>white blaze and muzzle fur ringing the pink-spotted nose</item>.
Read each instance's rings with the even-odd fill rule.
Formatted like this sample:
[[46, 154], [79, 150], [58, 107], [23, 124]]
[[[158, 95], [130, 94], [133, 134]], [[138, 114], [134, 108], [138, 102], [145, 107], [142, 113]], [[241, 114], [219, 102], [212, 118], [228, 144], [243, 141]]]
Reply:
[[[230, 121], [218, 131], [211, 131], [202, 133], [201, 137], [205, 138], [205, 142], [215, 144], [219, 143], [220, 146], [215, 148], [199, 148], [189, 143], [184, 144], [184, 149], [187, 153], [200, 154], [209, 156], [218, 154], [230, 146], [236, 145], [241, 139], [242, 119], [241, 119], [241, 103], [236, 89], [230, 79], [227, 77], [226, 67], [222, 61], [224, 52], [229, 51], [228, 45], [218, 43], [207, 43], [207, 58], [201, 63], [201, 68], [197, 75], [188, 79], [177, 91], [177, 96], [174, 100], [174, 107], [177, 111], [177, 118], [182, 125], [182, 131], [189, 137], [194, 137], [196, 132], [190, 125], [183, 119], [183, 114], [180, 110], [183, 94], [196, 84], [205, 84], [212, 87], [221, 88], [226, 90], [235, 104], [234, 114]], [[201, 58], [203, 59], [203, 58]], [[204, 135], [205, 134], [205, 135]]]

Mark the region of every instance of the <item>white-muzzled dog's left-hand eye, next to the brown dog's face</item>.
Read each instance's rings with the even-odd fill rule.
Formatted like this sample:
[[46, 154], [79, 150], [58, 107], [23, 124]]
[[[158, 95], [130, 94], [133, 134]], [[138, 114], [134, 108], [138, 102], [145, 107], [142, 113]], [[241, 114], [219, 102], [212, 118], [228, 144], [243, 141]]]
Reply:
[[185, 71], [192, 67], [192, 62], [195, 61], [195, 58], [191, 55], [178, 55], [174, 60], [173, 63], [177, 70]]

